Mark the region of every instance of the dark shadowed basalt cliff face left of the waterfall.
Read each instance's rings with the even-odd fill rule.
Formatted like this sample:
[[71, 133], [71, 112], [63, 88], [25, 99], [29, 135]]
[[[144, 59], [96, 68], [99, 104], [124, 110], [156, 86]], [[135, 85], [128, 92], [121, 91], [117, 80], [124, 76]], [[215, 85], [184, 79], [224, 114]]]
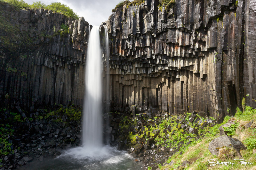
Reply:
[[[18, 28], [18, 36], [28, 35], [25, 42], [16, 42], [17, 49], [1, 46], [1, 105], [18, 104], [25, 110], [70, 101], [83, 105], [88, 22], [45, 9], [17, 11], [8, 4], [1, 4], [1, 15]], [[28, 41], [31, 44], [21, 49]]]

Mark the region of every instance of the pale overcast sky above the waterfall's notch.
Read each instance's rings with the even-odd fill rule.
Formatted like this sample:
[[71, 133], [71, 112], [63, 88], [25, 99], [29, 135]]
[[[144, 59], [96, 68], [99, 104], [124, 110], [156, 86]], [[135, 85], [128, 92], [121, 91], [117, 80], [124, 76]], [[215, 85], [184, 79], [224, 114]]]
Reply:
[[[28, 4], [33, 4], [33, 1], [40, 0], [24, 0]], [[108, 20], [108, 17], [112, 14], [112, 9], [116, 7], [122, 0], [41, 0], [46, 5], [52, 2], [60, 2], [66, 4], [79, 17], [84, 17], [85, 21], [88, 21], [90, 25], [100, 25], [103, 21]], [[132, 1], [132, 0], [130, 0]]]

